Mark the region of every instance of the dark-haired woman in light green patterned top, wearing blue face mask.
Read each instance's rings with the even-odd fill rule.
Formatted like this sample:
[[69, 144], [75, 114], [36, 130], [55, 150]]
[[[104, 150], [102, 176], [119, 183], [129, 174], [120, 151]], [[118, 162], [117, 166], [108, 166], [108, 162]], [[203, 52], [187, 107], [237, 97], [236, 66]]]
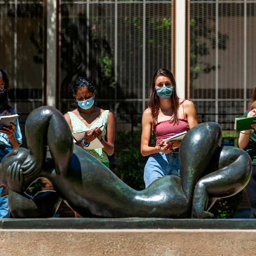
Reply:
[[[78, 78], [72, 83], [76, 109], [64, 115], [72, 133], [88, 131], [84, 138], [75, 144], [95, 156], [109, 168], [108, 155], [114, 153], [115, 119], [109, 110], [102, 110], [96, 106], [95, 86], [88, 78]], [[90, 143], [98, 138], [103, 148], [87, 150]]]

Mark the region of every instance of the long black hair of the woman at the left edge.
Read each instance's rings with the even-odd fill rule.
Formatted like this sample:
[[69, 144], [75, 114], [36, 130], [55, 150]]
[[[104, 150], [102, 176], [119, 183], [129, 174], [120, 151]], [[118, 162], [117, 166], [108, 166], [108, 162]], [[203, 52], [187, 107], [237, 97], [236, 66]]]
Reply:
[[7, 116], [11, 114], [10, 109], [12, 108], [8, 103], [8, 91], [10, 90], [10, 81], [5, 71], [1, 68], [0, 77], [4, 80], [5, 83], [5, 91], [2, 93], [0, 97], [0, 115]]

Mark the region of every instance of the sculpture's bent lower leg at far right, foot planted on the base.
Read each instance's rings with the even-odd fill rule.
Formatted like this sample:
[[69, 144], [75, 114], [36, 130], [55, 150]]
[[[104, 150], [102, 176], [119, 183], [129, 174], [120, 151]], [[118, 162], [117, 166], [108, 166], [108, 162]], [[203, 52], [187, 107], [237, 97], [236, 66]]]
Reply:
[[[226, 154], [224, 155], [226, 156]], [[218, 161], [218, 159], [216, 160]], [[249, 156], [241, 151], [241, 155], [232, 164], [210, 173], [198, 181], [194, 191], [192, 218], [213, 218], [214, 216], [206, 211], [209, 197], [230, 197], [245, 187], [251, 174], [249, 160]], [[222, 159], [219, 161], [222, 162]]]

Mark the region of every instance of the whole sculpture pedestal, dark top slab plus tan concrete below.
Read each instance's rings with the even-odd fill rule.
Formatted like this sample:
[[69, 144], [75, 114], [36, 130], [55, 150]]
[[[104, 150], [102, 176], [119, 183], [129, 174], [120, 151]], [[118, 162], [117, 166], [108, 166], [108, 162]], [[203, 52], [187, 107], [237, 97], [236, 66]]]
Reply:
[[0, 255], [5, 256], [254, 256], [256, 251], [254, 220], [70, 218], [9, 219], [0, 224]]

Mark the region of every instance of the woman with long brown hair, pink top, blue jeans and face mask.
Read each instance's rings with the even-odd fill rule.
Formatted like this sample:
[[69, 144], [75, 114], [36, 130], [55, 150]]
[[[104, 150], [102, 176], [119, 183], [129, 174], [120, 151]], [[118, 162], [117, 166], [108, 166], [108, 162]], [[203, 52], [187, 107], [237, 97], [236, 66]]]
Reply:
[[[166, 175], [180, 176], [180, 142], [166, 143], [166, 139], [197, 124], [195, 106], [190, 100], [178, 97], [173, 74], [166, 69], [158, 70], [152, 79], [148, 108], [142, 116], [141, 154], [150, 156], [144, 169], [146, 187]], [[148, 146], [153, 131], [155, 147]]]

